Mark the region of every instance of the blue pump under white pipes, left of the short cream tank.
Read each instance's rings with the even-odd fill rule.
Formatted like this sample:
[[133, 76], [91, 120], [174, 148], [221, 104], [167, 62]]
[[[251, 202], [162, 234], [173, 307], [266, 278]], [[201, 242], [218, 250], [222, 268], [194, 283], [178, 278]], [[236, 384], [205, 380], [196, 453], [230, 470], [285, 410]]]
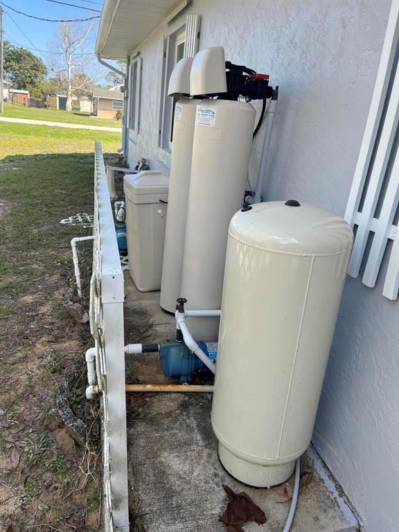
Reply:
[[[218, 344], [216, 342], [198, 342], [198, 345], [210, 360], [215, 362]], [[180, 382], [190, 381], [194, 373], [209, 371], [184, 342], [161, 342], [159, 344], [159, 359], [166, 377], [178, 378]]]

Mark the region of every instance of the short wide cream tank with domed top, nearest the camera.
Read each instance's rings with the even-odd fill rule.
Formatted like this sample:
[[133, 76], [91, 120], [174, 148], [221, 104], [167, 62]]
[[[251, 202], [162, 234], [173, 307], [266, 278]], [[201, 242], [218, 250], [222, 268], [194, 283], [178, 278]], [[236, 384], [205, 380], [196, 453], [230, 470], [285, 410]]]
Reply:
[[352, 243], [342, 218], [294, 200], [231, 220], [212, 425], [245, 484], [284, 482], [310, 443]]

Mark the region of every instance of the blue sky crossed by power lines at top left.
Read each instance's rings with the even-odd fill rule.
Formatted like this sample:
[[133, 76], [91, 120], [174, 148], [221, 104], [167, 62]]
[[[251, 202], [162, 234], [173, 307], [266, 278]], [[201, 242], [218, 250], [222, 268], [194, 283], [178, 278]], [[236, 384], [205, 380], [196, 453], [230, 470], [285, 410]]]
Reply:
[[[7, 6], [44, 19], [85, 19], [100, 15], [99, 12], [91, 11], [90, 8], [100, 11], [103, 3], [103, 0], [57, 0], [84, 8], [80, 9], [48, 0], [0, 0], [0, 3], [3, 3], [3, 1], [6, 4], [3, 4], [4, 39], [15, 44], [15, 46], [28, 48], [32, 53], [44, 60], [45, 63], [51, 57], [51, 54], [46, 53], [46, 51], [57, 29], [57, 23], [19, 15]], [[85, 46], [85, 52], [94, 52], [98, 20], [94, 19], [93, 21], [94, 29], [91, 35], [91, 42]]]

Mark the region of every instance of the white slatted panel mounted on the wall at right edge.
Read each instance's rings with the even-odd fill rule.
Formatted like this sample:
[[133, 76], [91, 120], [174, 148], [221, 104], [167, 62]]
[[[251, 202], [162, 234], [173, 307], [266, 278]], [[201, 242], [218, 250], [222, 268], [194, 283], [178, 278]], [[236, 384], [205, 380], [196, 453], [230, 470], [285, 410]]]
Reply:
[[[398, 36], [399, 1], [393, 0], [345, 213], [346, 221], [356, 228], [348, 274], [357, 277], [364, 263], [364, 285], [375, 286], [382, 258], [392, 240], [382, 289], [389, 299], [397, 299], [399, 288], [399, 230], [395, 220], [399, 202]], [[370, 233], [373, 233], [371, 245]]]

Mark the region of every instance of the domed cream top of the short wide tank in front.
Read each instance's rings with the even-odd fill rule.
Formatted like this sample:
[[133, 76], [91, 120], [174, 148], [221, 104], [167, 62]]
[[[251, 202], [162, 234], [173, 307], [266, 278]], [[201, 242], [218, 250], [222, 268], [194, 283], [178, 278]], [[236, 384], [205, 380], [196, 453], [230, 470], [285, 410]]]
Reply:
[[335, 255], [353, 245], [353, 232], [345, 220], [294, 199], [238, 211], [229, 233], [249, 246], [294, 255]]

